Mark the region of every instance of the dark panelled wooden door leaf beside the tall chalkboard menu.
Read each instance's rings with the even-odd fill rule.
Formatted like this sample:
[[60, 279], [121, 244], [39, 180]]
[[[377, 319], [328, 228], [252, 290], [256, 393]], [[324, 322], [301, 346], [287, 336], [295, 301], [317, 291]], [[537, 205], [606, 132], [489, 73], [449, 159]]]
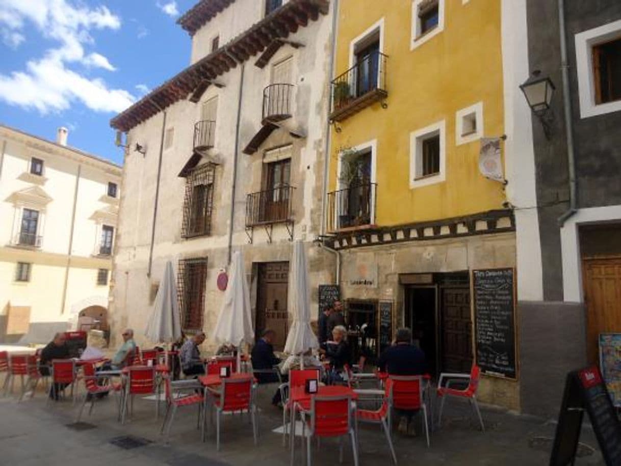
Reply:
[[470, 372], [472, 365], [472, 321], [470, 290], [443, 288], [442, 372]]

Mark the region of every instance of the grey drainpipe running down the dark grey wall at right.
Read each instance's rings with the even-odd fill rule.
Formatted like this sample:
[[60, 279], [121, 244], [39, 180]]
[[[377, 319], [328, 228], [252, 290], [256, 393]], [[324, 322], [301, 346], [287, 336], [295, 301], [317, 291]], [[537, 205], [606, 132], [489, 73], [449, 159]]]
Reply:
[[561, 42], [561, 73], [563, 74], [563, 105], [567, 138], [567, 165], [569, 171], [569, 209], [558, 218], [563, 226], [569, 217], [578, 211], [576, 205], [576, 156], [574, 155], [574, 132], [571, 120], [571, 98], [569, 97], [569, 65], [567, 63], [567, 42], [565, 38], [564, 0], [558, 0], [558, 25]]

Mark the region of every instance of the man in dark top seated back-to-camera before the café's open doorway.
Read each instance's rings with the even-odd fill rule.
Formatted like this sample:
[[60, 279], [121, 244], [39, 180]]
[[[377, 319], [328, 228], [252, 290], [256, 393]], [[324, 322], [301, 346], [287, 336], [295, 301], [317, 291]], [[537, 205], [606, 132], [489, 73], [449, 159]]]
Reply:
[[[379, 356], [378, 369], [391, 375], [423, 375], [426, 370], [425, 353], [412, 344], [409, 328], [397, 330], [395, 344], [384, 349]], [[410, 422], [414, 411], [398, 410], [399, 432], [414, 435], [414, 423]]]

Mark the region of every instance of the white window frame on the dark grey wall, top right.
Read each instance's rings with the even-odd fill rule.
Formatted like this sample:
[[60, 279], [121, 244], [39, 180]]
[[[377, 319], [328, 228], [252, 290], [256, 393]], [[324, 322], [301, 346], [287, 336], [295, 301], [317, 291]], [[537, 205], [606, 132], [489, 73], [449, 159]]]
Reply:
[[621, 101], [596, 104], [593, 54], [591, 52], [595, 45], [610, 42], [617, 38], [621, 38], [621, 19], [574, 35], [581, 118], [594, 117], [621, 110]]

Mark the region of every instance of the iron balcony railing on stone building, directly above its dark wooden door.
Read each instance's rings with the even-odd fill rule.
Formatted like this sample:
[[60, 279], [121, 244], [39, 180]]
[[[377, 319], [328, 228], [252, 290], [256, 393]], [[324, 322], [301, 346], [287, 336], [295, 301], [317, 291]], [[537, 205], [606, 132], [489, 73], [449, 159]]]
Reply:
[[284, 223], [292, 220], [291, 200], [295, 188], [280, 186], [248, 194], [246, 202], [246, 226]]

